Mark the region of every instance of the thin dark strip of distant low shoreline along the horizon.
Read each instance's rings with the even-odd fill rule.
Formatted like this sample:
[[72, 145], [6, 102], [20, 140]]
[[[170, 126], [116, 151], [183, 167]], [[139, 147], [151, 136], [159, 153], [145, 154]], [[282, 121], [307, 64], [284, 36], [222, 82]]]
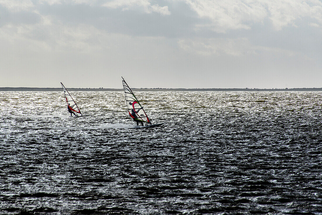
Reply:
[[[62, 88], [42, 87], [0, 87], [0, 91], [61, 91]], [[69, 91], [123, 91], [112, 88], [68, 88]], [[285, 89], [249, 89], [249, 88], [132, 88], [133, 91], [322, 91], [322, 88], [285, 88]]]

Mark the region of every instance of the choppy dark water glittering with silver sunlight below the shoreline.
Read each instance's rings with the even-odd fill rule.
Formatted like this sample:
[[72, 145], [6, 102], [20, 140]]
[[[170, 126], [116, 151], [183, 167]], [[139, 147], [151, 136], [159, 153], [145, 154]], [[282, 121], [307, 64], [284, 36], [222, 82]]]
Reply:
[[0, 214], [322, 214], [320, 92], [70, 93], [0, 92]]

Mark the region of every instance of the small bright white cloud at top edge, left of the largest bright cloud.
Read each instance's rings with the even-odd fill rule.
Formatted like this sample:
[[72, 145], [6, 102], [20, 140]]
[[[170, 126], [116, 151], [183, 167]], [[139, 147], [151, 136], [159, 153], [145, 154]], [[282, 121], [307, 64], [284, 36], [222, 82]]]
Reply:
[[102, 6], [109, 8], [122, 8], [129, 10], [130, 8], [142, 7], [146, 13], [156, 12], [161, 15], [170, 15], [168, 6], [159, 6], [158, 4], [152, 5], [149, 0], [112, 0], [108, 1]]

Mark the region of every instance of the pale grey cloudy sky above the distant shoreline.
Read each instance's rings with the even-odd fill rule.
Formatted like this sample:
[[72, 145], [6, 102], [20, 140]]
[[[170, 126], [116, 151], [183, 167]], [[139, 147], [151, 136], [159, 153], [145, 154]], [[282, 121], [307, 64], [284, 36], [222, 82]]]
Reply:
[[0, 87], [322, 87], [319, 0], [0, 0]]

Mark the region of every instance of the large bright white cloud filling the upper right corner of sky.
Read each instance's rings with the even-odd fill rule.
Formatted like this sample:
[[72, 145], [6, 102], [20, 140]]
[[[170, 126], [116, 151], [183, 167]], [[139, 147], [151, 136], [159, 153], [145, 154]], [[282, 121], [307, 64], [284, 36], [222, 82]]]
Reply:
[[198, 28], [210, 28], [218, 33], [228, 30], [251, 29], [253, 24], [269, 19], [275, 30], [296, 26], [302, 17], [322, 24], [322, 3], [318, 0], [181, 0], [190, 6], [200, 18], [209, 24]]

